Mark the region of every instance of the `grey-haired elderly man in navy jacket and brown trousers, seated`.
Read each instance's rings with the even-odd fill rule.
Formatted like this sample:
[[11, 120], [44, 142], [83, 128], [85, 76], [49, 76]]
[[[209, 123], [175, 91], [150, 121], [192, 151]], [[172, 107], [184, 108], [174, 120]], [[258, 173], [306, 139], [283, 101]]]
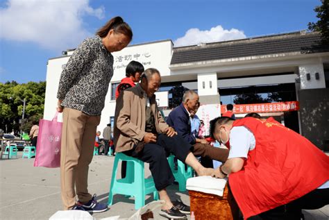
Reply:
[[227, 149], [219, 149], [208, 144], [207, 140], [194, 137], [191, 132], [191, 123], [189, 117], [199, 108], [199, 95], [193, 90], [188, 90], [183, 95], [183, 102], [172, 110], [167, 118], [167, 124], [172, 126], [189, 144], [193, 145], [191, 149], [193, 154], [206, 159], [225, 162], [228, 158]]

